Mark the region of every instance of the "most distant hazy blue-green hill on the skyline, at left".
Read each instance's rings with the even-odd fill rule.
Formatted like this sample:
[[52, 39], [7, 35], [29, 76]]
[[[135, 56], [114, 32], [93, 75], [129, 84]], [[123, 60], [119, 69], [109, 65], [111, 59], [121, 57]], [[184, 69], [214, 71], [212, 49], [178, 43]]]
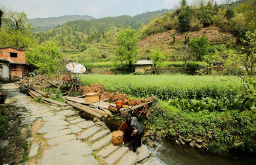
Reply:
[[30, 23], [35, 27], [38, 31], [46, 31], [57, 25], [63, 25], [68, 21], [75, 21], [75, 20], [90, 20], [93, 19], [92, 16], [88, 15], [64, 15], [60, 17], [49, 17], [49, 18], [34, 18], [28, 19]]

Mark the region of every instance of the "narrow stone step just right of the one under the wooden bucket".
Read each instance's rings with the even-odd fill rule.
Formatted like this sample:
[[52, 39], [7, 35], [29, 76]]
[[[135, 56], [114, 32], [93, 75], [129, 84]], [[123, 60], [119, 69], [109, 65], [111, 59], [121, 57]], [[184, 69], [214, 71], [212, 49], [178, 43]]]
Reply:
[[124, 155], [126, 155], [129, 152], [128, 147], [121, 147], [117, 149], [115, 152], [113, 152], [111, 155], [109, 155], [104, 162], [106, 162], [109, 165], [115, 164], [119, 159], [121, 159]]

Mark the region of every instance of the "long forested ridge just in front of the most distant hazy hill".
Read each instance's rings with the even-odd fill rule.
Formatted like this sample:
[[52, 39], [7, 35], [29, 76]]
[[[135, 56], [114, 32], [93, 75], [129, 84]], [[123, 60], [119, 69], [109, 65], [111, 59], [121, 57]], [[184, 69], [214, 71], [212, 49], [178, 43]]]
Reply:
[[162, 9], [154, 12], [145, 12], [135, 16], [121, 15], [116, 17], [93, 19], [89, 21], [76, 20], [67, 22], [66, 24], [63, 24], [60, 27], [68, 25], [75, 31], [87, 34], [93, 33], [94, 31], [108, 31], [112, 27], [127, 28], [129, 25], [133, 29], [138, 29], [139, 27], [141, 27], [141, 24], [148, 24], [153, 17], [160, 16], [163, 15], [163, 13], [169, 13], [171, 11], [171, 9]]

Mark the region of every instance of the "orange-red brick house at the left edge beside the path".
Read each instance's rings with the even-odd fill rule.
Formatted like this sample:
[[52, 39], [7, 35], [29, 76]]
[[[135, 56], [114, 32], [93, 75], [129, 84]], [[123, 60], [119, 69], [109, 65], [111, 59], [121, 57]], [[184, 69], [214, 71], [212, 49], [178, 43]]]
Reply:
[[25, 50], [15, 49], [12, 47], [0, 48], [1, 53], [8, 55], [13, 61], [10, 62], [10, 76], [15, 75], [23, 77], [24, 73], [31, 73], [34, 71], [33, 66], [25, 61]]

